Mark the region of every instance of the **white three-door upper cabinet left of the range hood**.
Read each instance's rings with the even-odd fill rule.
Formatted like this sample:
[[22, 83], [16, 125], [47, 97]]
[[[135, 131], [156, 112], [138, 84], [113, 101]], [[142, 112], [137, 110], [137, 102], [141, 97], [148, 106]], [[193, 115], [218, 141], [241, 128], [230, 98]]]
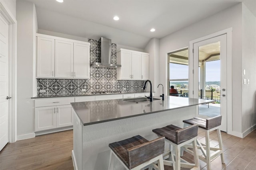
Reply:
[[90, 77], [90, 43], [37, 34], [38, 78]]

